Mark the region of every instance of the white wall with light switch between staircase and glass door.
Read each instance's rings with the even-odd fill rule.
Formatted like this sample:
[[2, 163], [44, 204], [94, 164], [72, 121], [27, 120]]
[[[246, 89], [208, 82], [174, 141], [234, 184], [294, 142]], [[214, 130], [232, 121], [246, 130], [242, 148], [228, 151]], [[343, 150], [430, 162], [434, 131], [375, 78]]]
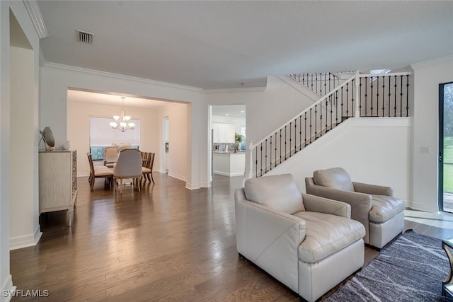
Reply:
[[[413, 64], [413, 204], [437, 211], [439, 84], [453, 81], [453, 56]], [[420, 153], [428, 147], [430, 153]]]

